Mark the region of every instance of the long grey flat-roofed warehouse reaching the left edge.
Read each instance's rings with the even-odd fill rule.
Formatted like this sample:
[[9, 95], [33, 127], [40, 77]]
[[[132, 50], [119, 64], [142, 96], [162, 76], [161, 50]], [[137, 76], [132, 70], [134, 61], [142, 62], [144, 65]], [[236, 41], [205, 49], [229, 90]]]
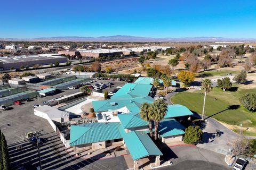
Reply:
[[21, 66], [49, 65], [55, 62], [66, 63], [67, 57], [59, 54], [38, 54], [0, 57], [0, 70], [20, 69]]

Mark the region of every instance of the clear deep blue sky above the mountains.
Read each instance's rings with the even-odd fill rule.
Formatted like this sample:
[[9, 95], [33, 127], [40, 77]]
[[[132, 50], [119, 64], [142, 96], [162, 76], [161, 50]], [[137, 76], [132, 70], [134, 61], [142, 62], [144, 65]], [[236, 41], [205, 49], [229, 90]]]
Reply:
[[254, 0], [8, 0], [1, 6], [1, 38], [256, 38]]

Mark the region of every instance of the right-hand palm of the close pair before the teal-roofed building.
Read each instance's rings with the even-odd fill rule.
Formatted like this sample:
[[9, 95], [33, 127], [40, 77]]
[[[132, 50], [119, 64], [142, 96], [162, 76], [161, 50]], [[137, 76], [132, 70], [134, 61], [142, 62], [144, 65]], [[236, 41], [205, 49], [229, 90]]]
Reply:
[[163, 99], [157, 99], [151, 104], [152, 115], [151, 118], [155, 124], [155, 140], [158, 139], [158, 125], [164, 119], [167, 112], [167, 104]]

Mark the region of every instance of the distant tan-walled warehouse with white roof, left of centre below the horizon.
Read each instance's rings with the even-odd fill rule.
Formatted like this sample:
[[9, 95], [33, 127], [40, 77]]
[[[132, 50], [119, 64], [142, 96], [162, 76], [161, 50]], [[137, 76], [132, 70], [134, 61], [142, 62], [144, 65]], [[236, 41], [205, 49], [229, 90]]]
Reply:
[[[113, 57], [116, 55], [130, 55], [133, 53], [131, 50], [120, 50], [120, 49], [82, 49], [78, 50], [76, 52], [79, 52], [80, 55], [85, 57]], [[66, 55], [75, 55], [74, 52], [58, 52], [59, 54], [66, 54]]]

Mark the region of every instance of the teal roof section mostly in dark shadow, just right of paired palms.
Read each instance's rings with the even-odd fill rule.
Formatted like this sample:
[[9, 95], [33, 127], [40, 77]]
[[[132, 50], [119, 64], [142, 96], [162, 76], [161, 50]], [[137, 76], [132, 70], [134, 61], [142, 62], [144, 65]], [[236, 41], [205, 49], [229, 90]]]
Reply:
[[164, 119], [159, 123], [158, 132], [161, 137], [171, 137], [174, 135], [185, 134], [185, 127], [174, 118]]

